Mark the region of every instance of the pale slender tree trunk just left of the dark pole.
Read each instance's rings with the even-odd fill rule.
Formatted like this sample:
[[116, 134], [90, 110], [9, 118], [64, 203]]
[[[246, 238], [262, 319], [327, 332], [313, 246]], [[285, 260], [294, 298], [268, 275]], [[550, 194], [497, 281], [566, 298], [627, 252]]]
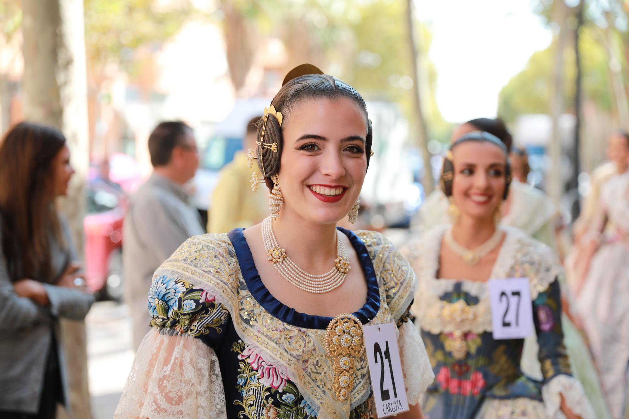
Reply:
[[566, 18], [567, 6], [563, 1], [554, 3], [554, 20], [559, 25], [559, 33], [555, 36], [554, 66], [552, 74], [552, 97], [550, 103], [550, 117], [552, 119], [552, 132], [548, 154], [552, 165], [550, 167], [550, 177], [548, 179], [548, 195], [555, 204], [559, 205], [563, 193], [561, 179], [561, 131], [559, 129], [559, 118], [564, 112], [564, 48], [567, 38]]

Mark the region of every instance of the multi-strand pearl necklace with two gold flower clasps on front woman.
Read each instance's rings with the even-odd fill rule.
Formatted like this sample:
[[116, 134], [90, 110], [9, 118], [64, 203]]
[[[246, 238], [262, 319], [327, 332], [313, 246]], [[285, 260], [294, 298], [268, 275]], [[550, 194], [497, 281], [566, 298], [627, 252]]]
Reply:
[[267, 255], [269, 255], [269, 261], [273, 262], [277, 272], [293, 286], [308, 293], [323, 294], [338, 288], [345, 281], [347, 272], [349, 272], [351, 267], [347, 257], [347, 250], [338, 230], [338, 257], [334, 260], [335, 265], [330, 271], [321, 275], [313, 275], [304, 271], [286, 255], [286, 249], [279, 247], [273, 233], [270, 216], [262, 221], [262, 242], [264, 242], [264, 249], [267, 251]]

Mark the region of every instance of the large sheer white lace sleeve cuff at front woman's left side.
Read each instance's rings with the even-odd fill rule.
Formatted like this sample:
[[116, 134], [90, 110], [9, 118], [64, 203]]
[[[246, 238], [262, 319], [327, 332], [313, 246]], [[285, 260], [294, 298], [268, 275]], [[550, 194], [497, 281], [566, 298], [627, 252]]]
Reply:
[[218, 358], [201, 340], [152, 328], [133, 360], [114, 418], [226, 418]]

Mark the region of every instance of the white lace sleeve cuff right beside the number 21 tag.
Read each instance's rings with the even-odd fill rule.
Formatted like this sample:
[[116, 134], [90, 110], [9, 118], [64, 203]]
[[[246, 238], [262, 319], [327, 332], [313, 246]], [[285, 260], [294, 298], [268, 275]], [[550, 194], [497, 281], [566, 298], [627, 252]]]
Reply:
[[420, 394], [426, 391], [435, 379], [435, 374], [415, 325], [411, 321], [406, 321], [398, 330], [398, 349], [406, 384], [406, 399], [409, 405], [416, 405]]

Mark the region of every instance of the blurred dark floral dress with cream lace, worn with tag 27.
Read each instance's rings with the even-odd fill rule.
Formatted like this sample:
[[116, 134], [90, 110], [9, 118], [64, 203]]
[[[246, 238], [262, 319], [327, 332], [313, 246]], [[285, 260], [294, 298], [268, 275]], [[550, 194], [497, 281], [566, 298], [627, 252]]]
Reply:
[[418, 276], [412, 312], [435, 381], [422, 403], [427, 418], [562, 418], [560, 394], [582, 418], [593, 418], [581, 383], [571, 376], [561, 327], [559, 261], [543, 243], [516, 228], [506, 232], [491, 279], [527, 277], [543, 381], [520, 369], [523, 339], [495, 340], [489, 286], [437, 279], [447, 225], [436, 226], [409, 249]]

